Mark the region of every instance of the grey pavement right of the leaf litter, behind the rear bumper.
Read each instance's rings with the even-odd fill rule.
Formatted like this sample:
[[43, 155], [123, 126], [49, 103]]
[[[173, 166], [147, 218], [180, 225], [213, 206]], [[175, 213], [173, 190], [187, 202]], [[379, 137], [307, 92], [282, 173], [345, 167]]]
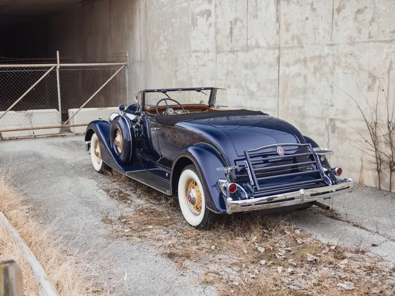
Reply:
[[298, 212], [294, 223], [320, 241], [345, 244], [395, 263], [395, 194], [366, 186], [324, 201], [335, 210], [337, 222], [318, 213]]

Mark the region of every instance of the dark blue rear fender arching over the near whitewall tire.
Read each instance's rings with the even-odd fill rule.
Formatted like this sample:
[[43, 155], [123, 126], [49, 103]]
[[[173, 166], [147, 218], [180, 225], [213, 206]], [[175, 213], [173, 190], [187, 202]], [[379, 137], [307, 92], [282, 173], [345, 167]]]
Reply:
[[[189, 161], [188, 161], [189, 160]], [[222, 195], [217, 182], [225, 178], [224, 171], [217, 171], [217, 168], [226, 165], [221, 160], [216, 150], [207, 144], [197, 144], [189, 146], [173, 162], [171, 170], [171, 192], [176, 193], [178, 178], [185, 164], [193, 163], [204, 182], [206, 193], [206, 207], [216, 213], [226, 213], [226, 201]]]

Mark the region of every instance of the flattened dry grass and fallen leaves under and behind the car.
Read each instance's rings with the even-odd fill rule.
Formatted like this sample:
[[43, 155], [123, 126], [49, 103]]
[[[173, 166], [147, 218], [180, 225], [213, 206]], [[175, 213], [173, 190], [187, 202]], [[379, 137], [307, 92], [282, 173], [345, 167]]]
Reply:
[[[200, 272], [200, 283], [217, 286], [222, 295], [395, 293], [395, 274], [379, 258], [322, 244], [287, 217], [234, 215], [211, 230], [197, 231], [186, 224], [176, 200], [119, 174], [114, 181], [122, 182], [122, 195], [138, 192], [146, 202], [112, 221], [113, 230], [154, 246], [179, 268]], [[310, 254], [316, 259], [309, 261]], [[338, 286], [345, 282], [355, 287]]]

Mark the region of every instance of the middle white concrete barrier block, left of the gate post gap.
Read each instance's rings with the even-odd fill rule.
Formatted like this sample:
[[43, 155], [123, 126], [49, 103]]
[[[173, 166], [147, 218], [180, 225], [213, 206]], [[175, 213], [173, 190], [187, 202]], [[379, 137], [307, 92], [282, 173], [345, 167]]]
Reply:
[[[32, 127], [59, 126], [59, 111], [57, 109], [29, 110]], [[33, 130], [34, 136], [56, 135], [60, 133], [60, 128], [45, 128], [43, 130]]]

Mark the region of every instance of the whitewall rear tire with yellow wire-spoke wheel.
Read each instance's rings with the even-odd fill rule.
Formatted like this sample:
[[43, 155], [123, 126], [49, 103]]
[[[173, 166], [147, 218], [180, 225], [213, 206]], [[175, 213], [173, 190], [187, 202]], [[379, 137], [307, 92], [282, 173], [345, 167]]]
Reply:
[[184, 168], [178, 180], [178, 202], [185, 220], [196, 229], [209, 228], [217, 214], [206, 208], [204, 180], [191, 164]]

